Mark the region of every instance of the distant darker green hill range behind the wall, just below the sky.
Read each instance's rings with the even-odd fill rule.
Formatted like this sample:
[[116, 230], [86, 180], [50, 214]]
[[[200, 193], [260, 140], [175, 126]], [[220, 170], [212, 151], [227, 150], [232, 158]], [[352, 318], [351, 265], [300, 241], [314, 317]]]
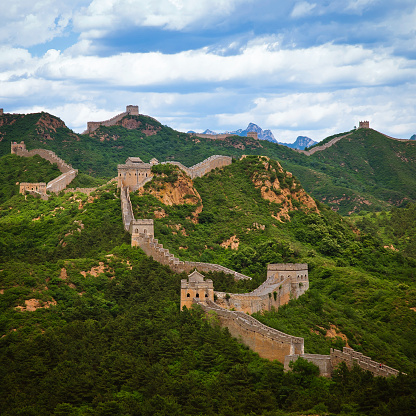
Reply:
[[[371, 129], [357, 129], [329, 149], [308, 157], [268, 141], [239, 136], [203, 139], [177, 132], [151, 117], [127, 118], [138, 127], [100, 127], [88, 136], [74, 134], [46, 113], [5, 115], [3, 119], [8, 122], [0, 126], [0, 155], [10, 152], [10, 141], [23, 139], [28, 149], [51, 149], [82, 172], [105, 178], [114, 177], [117, 164], [132, 155], [145, 161], [153, 157], [177, 160], [186, 166], [213, 154], [235, 158], [266, 155], [281, 161], [311, 195], [341, 214], [362, 209], [380, 211], [416, 201], [414, 141], [396, 141]], [[344, 133], [323, 142], [339, 135]]]

